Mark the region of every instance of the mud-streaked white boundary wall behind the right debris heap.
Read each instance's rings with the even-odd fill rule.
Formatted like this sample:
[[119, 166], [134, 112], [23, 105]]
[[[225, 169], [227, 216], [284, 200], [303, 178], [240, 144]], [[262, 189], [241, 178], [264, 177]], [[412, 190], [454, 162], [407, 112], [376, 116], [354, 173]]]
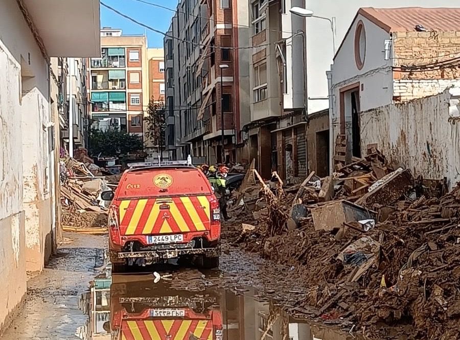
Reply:
[[362, 112], [362, 152], [367, 144], [377, 143], [390, 164], [406, 167], [415, 176], [446, 176], [452, 188], [460, 180], [460, 88], [456, 92], [458, 96], [446, 90], [433, 97]]

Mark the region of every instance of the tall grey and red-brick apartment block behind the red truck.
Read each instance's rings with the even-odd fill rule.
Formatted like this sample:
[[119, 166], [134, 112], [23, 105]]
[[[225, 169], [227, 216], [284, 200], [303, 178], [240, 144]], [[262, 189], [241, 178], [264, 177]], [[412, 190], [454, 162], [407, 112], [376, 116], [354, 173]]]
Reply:
[[[165, 37], [172, 157], [190, 153], [209, 163], [237, 160], [240, 116], [249, 110], [248, 39], [246, 0], [178, 4]], [[238, 49], [241, 43], [245, 49]]]

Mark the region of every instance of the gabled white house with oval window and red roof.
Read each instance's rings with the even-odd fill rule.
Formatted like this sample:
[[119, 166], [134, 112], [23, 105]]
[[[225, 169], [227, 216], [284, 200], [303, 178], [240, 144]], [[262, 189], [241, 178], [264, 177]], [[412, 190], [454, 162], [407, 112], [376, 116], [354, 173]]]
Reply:
[[[452, 64], [460, 53], [458, 15], [460, 8], [359, 9], [328, 72], [331, 161], [349, 163], [373, 144], [361, 133], [385, 116], [371, 122], [362, 112], [390, 104], [396, 112], [397, 104], [442, 93], [460, 80]], [[396, 131], [378, 131], [378, 147]], [[339, 146], [343, 140], [346, 147]]]

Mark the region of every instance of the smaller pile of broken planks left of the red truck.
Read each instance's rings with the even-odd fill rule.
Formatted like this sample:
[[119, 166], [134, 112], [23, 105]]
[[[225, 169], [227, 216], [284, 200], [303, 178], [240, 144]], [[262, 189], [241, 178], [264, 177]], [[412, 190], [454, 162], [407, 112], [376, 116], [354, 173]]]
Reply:
[[67, 157], [60, 162], [60, 180], [63, 229], [107, 228], [109, 202], [102, 200], [101, 193], [110, 189], [104, 177]]

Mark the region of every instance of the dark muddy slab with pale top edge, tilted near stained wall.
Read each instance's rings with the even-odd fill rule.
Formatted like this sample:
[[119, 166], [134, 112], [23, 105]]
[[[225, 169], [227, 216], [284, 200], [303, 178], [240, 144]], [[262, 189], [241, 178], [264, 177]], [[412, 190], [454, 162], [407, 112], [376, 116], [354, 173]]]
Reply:
[[414, 180], [409, 169], [394, 171], [374, 190], [364, 194], [356, 203], [363, 207], [372, 207], [375, 204], [382, 206], [392, 205], [414, 186]]

